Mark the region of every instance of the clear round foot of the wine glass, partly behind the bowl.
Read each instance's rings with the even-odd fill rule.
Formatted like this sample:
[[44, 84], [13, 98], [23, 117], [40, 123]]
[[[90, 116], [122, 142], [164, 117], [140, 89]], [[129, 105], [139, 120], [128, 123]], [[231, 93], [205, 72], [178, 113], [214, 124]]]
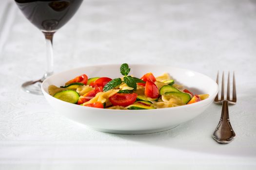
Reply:
[[31, 94], [42, 94], [41, 90], [42, 80], [29, 81], [21, 85], [22, 89]]

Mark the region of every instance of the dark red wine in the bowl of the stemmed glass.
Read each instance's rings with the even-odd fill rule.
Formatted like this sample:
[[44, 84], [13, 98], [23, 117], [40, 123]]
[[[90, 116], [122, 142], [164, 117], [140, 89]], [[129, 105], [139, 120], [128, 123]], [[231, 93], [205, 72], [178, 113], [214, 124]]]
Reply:
[[15, 0], [22, 13], [44, 32], [55, 32], [77, 12], [83, 0]]

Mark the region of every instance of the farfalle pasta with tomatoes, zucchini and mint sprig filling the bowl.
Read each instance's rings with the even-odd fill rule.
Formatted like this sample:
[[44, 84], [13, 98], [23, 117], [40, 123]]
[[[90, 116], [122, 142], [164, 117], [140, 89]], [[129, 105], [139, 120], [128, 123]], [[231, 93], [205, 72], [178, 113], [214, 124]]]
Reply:
[[65, 85], [50, 85], [49, 94], [55, 98], [105, 109], [160, 109], [177, 107], [205, 100], [208, 94], [194, 95], [185, 86], [178, 85], [169, 73], [155, 77], [153, 73], [144, 74], [140, 79], [129, 75], [127, 64], [120, 67], [122, 77], [91, 77], [86, 74], [69, 80]]

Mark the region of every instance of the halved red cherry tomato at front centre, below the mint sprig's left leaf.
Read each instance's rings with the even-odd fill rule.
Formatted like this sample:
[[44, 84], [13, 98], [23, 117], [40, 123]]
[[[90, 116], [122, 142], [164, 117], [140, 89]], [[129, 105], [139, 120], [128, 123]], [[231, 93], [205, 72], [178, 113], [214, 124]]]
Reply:
[[116, 93], [113, 96], [109, 98], [109, 101], [114, 105], [114, 106], [128, 106], [133, 104], [137, 99], [137, 94], [136, 93]]

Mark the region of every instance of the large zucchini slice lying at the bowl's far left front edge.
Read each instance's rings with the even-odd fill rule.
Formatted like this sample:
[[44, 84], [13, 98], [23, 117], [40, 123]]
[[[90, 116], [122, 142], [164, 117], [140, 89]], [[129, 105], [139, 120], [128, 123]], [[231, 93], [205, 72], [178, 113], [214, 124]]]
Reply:
[[77, 103], [79, 100], [79, 94], [78, 92], [74, 90], [63, 90], [58, 93], [56, 93], [53, 97], [65, 101], [65, 102], [71, 102], [71, 103]]

